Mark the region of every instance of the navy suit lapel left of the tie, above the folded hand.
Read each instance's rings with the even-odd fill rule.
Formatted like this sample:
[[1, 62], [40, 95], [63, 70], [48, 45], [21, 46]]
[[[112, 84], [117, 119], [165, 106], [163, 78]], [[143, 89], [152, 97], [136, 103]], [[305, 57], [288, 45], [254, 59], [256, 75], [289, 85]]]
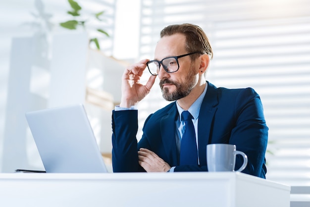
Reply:
[[160, 120], [160, 133], [164, 150], [173, 166], [178, 164], [178, 154], [175, 141], [175, 118], [178, 115], [176, 104], [171, 107]]

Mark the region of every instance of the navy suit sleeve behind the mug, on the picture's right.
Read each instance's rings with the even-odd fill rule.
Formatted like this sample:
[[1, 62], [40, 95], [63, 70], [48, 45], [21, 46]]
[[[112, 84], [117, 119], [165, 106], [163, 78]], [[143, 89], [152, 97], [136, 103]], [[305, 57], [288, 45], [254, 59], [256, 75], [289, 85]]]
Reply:
[[[231, 131], [229, 144], [248, 156], [248, 165], [242, 172], [265, 178], [265, 152], [268, 140], [263, 108], [258, 94], [251, 88], [243, 90], [235, 101], [236, 125]], [[243, 163], [236, 157], [236, 169]]]

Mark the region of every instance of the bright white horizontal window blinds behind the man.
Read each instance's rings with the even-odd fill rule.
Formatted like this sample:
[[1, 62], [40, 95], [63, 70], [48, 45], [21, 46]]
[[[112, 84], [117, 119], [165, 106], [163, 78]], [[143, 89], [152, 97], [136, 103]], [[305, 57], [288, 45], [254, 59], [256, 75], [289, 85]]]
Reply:
[[[306, 0], [144, 0], [141, 6], [141, 58], [154, 57], [164, 26], [194, 23], [214, 52], [207, 80], [258, 92], [269, 127], [266, 176], [288, 185], [310, 185], [309, 11]], [[138, 137], [147, 115], [168, 104], [156, 83], [139, 104]]]

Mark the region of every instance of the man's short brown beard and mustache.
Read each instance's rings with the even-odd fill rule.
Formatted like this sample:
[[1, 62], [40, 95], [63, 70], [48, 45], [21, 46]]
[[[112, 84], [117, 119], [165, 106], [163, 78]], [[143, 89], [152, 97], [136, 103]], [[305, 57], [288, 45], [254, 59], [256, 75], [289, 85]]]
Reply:
[[[159, 82], [159, 86], [161, 89], [162, 97], [166, 101], [176, 101], [188, 96], [195, 87], [196, 82], [197, 77], [195, 75], [194, 68], [191, 68], [185, 82], [177, 83], [169, 79], [162, 79]], [[163, 84], [173, 84], [175, 85], [176, 90], [173, 92], [169, 92], [169, 89], [163, 88]]]

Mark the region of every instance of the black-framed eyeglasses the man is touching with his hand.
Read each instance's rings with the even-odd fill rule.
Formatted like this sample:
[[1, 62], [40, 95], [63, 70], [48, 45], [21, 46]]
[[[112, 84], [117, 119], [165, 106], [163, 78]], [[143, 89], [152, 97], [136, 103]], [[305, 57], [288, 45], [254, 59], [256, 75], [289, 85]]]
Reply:
[[179, 69], [179, 61], [178, 58], [185, 57], [187, 55], [195, 54], [195, 53], [201, 53], [201, 52], [191, 52], [187, 54], [182, 54], [179, 56], [172, 56], [172, 57], [166, 57], [163, 58], [161, 61], [159, 60], [151, 60], [147, 62], [147, 66], [149, 68], [149, 71], [152, 75], [158, 75], [160, 64], [162, 65], [163, 69], [167, 73], [174, 73], [178, 71]]

